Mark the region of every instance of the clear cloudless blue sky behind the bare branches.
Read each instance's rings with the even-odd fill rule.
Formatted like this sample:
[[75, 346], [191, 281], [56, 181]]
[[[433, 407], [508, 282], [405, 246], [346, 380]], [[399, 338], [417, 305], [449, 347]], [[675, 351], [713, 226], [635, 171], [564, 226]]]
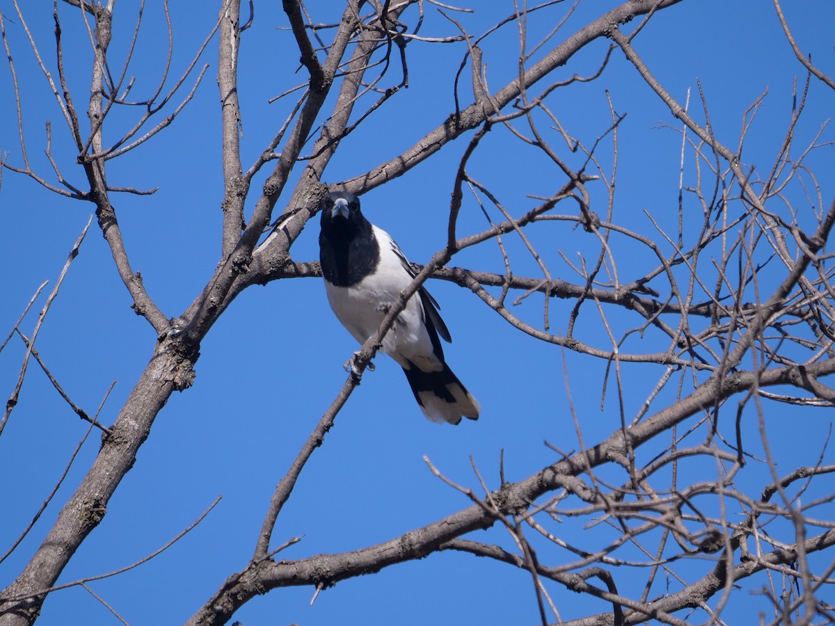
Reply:
[[[156, 3], [151, 4], [154, 6], [145, 10], [140, 53], [130, 68], [137, 77], [136, 98], [153, 91], [164, 58], [164, 22]], [[334, 16], [339, 15], [341, 4], [332, 0], [317, 4], [316, 10], [321, 11], [317, 19], [337, 19]], [[580, 3], [554, 42], [616, 4]], [[831, 38], [835, 6], [827, 0], [786, 4], [784, 10], [802, 49], [811, 52], [813, 60], [830, 75], [835, 73]], [[119, 58], [124, 39], [132, 33], [136, 5], [117, 3], [114, 58]], [[292, 97], [276, 103], [268, 100], [304, 80], [303, 72], [296, 73], [298, 53], [291, 33], [281, 29], [286, 26], [286, 18], [278, 5], [256, 3], [256, 19], [245, 33], [240, 51], [241, 152], [245, 167], [261, 153], [295, 103]], [[489, 5], [474, 14], [458, 14], [457, 19], [468, 32], [480, 34], [496, 16], [505, 16], [513, 8], [512, 3], [505, 2]], [[85, 43], [87, 36], [77, 9], [61, 4], [59, 10], [65, 46], [73, 49], [69, 72], [73, 98], [83, 109], [89, 97], [85, 91], [89, 83], [89, 44]], [[531, 18], [531, 41], [538, 41], [541, 33], [553, 28], [565, 10], [567, 7], [560, 6]], [[52, 3], [26, 3], [24, 11], [33, 36], [42, 46], [43, 58], [53, 67]], [[82, 185], [82, 172], [75, 165], [66, 126], [44, 88], [43, 75], [33, 62], [22, 24], [9, 0], [0, 0], [0, 13], [7, 18], [5, 28], [13, 46], [33, 168], [53, 179], [43, 157], [44, 120], [49, 119], [53, 155], [63, 174]], [[198, 11], [194, 5], [172, 3], [171, 15], [175, 36], [171, 73], [179, 76], [210, 32], [216, 9]], [[450, 24], [427, 5], [422, 34], [431, 37], [450, 32]], [[76, 48], [71, 48], [73, 45]], [[607, 45], [597, 42], [584, 49], [550, 78], [594, 73]], [[716, 135], [734, 148], [746, 108], [767, 90], [746, 139], [743, 160], [760, 170], [772, 166], [791, 113], [792, 79], [798, 77], [802, 82], [804, 74], [782, 37], [771, 3], [684, 2], [655, 16], [635, 39], [635, 47], [674, 97], [683, 101], [687, 89], [691, 89], [691, 107], [700, 106], [696, 81], [701, 81]], [[514, 78], [518, 49], [518, 33], [513, 26], [484, 43], [488, 83], [493, 90]], [[463, 58], [463, 43], [412, 43], [408, 51], [410, 87], [377, 111], [366, 129], [342, 142], [326, 170], [326, 182], [351, 179], [391, 159], [452, 112], [451, 82]], [[200, 59], [200, 63], [209, 63], [209, 68], [194, 101], [169, 129], [109, 163], [111, 184], [159, 188], [151, 196], [117, 195], [114, 205], [119, 210], [134, 270], [141, 271], [149, 295], [167, 316], [185, 310], [218, 261], [223, 182], [216, 57], [215, 39]], [[190, 85], [191, 80], [186, 83]], [[547, 80], [537, 87], [544, 88]], [[8, 153], [9, 163], [20, 164], [8, 65], [0, 69], [0, 81], [0, 150], [3, 155]], [[549, 98], [549, 106], [569, 133], [591, 144], [610, 125], [607, 89], [615, 110], [627, 114], [619, 129], [616, 215], [652, 236], [654, 231], [642, 217], [643, 210], [661, 225], [671, 227], [676, 222], [681, 135], [661, 126], [679, 128], [680, 124], [618, 51], [600, 79], [556, 91]], [[461, 88], [461, 93], [464, 105], [468, 104], [469, 88]], [[798, 147], [807, 145], [835, 110], [833, 98], [832, 91], [812, 82], [804, 123], [797, 132]], [[129, 128], [137, 115], [136, 110], [119, 112], [107, 131], [109, 139]], [[703, 119], [698, 109], [694, 117]], [[559, 136], [550, 137], [554, 145], [559, 145]], [[832, 132], [825, 131], [823, 137], [832, 140]], [[443, 246], [449, 194], [467, 140], [447, 146], [435, 158], [362, 198], [369, 219], [390, 232], [411, 260], [423, 263]], [[825, 203], [831, 201], [833, 192], [832, 180], [827, 179], [835, 164], [832, 150], [832, 146], [817, 149], [809, 160], [820, 175]], [[610, 143], [601, 146], [599, 154], [606, 168], [611, 161]], [[573, 164], [580, 162], [576, 155], [567, 158]], [[544, 164], [532, 149], [521, 146], [501, 128], [488, 134], [471, 161], [470, 173], [490, 184], [514, 215], [537, 204], [528, 195], [548, 195], [562, 184], [552, 165]], [[694, 176], [688, 164], [686, 177], [692, 181]], [[605, 202], [605, 194], [599, 189], [595, 193], [596, 202]], [[255, 199], [253, 194], [248, 210]], [[282, 201], [286, 199], [279, 200], [279, 208], [283, 207]], [[792, 198], [792, 203], [802, 204], [803, 199]], [[605, 211], [605, 204], [597, 206], [599, 212]], [[688, 210], [698, 209], [693, 205]], [[0, 264], [5, 269], [0, 275], [0, 334], [5, 336], [12, 329], [43, 280], [50, 281], [44, 295], [52, 289], [91, 211], [90, 204], [58, 198], [23, 176], [3, 173]], [[493, 215], [493, 219], [500, 218]], [[472, 197], [465, 199], [459, 234], [485, 227], [477, 204]], [[316, 260], [317, 234], [316, 220], [311, 220], [293, 247], [295, 260]], [[589, 255], [591, 262], [595, 258], [595, 241], [570, 225], [549, 223], [531, 236], [547, 258], [549, 269], [564, 280], [578, 282], [579, 278], [559, 258], [557, 250], [572, 262], [578, 262], [578, 254]], [[518, 240], [508, 237], [506, 243], [517, 274], [539, 275]], [[619, 250], [629, 250], [628, 245], [619, 245], [624, 246]], [[619, 269], [634, 277], [654, 266], [653, 259], [641, 254], [624, 260]], [[501, 255], [490, 245], [464, 252], [453, 265], [504, 271]], [[766, 284], [767, 280], [763, 276]], [[477, 297], [456, 285], [433, 280], [428, 288], [441, 304], [453, 334], [454, 342], [446, 349], [448, 361], [480, 401], [480, 420], [457, 428], [427, 422], [397, 366], [378, 358], [376, 371], [363, 378], [326, 445], [302, 474], [276, 525], [276, 543], [304, 536], [301, 543], [286, 550], [285, 558], [362, 548], [467, 507], [466, 497], [433, 477], [424, 456], [454, 482], [478, 491], [471, 458], [488, 485], [498, 487], [502, 450], [504, 472], [511, 481], [528, 477], [558, 458], [544, 441], [564, 451], [576, 450], [579, 444], [565, 393], [566, 380], [585, 442], [597, 442], [618, 427], [614, 382], [610, 381], [605, 401], [601, 402], [605, 362], [562, 351], [514, 331]], [[43, 305], [44, 295], [33, 310]], [[111, 381], [116, 381], [100, 416], [105, 424], [113, 421], [154, 345], [154, 332], [129, 305], [129, 295], [94, 224], [49, 310], [38, 336], [38, 350], [68, 395], [89, 413], [99, 406]], [[564, 330], [572, 305], [564, 300], [550, 303], [552, 331]], [[541, 327], [541, 296], [524, 300], [514, 313]], [[30, 312], [23, 322], [24, 331], [32, 330], [36, 318], [37, 313]], [[635, 319], [615, 321], [624, 330], [637, 323]], [[595, 325], [593, 318], [584, 318], [583, 324], [588, 326], [581, 331], [600, 341], [600, 325]], [[645, 344], [632, 344], [632, 349], [652, 351], [655, 348], [649, 346], [653, 341], [648, 337]], [[601, 343], [605, 345], [605, 341]], [[170, 541], [222, 495], [205, 520], [169, 550], [128, 573], [91, 583], [91, 588], [129, 623], [185, 621], [226, 576], [245, 566], [276, 482], [342, 386], [346, 376], [342, 363], [355, 349], [351, 336], [332, 316], [320, 280], [282, 280], [247, 290], [210, 331], [201, 346], [195, 386], [170, 399], [139, 452], [134, 469], [109, 502], [104, 523], [83, 544], [59, 582], [134, 563]], [[23, 347], [17, 340], [0, 353], [3, 393], [13, 389], [22, 358]], [[7, 502], [0, 517], [0, 552], [5, 552], [25, 528], [86, 431], [85, 423], [68, 410], [38, 367], [30, 364], [29, 368], [19, 405], [0, 437], [0, 476], [4, 477]], [[659, 376], [657, 366], [625, 369], [625, 413], [629, 418], [640, 409]], [[822, 447], [832, 424], [831, 411], [823, 409], [800, 412], [777, 406], [767, 418], [769, 437], [780, 444], [775, 454], [785, 470], [782, 473], [797, 465], [798, 447], [806, 450], [808, 442], [820, 442]], [[797, 427], [798, 420], [802, 420], [802, 428]], [[754, 416], [744, 427], [750, 429], [756, 442]], [[0, 563], [0, 586], [17, 575], [38, 547], [61, 504], [89, 468], [99, 447], [98, 439], [96, 432], [91, 433], [52, 505], [15, 553]], [[815, 448], [801, 462], [813, 462], [819, 453]], [[824, 459], [833, 462], [835, 456], [827, 450]], [[754, 465], [746, 468], [746, 480], [751, 481], [746, 484], [768, 482], [767, 466]], [[689, 471], [715, 472], [704, 467], [691, 467]], [[827, 480], [828, 492], [832, 491], [831, 479], [822, 478], [822, 492], [827, 492]], [[759, 488], [751, 489], [752, 494], [759, 493]], [[595, 533], [600, 541], [610, 538], [605, 528], [583, 530], [576, 521], [565, 523], [564, 528], [555, 525], [552, 531], [566, 533], [578, 542], [581, 538], [593, 541]], [[474, 539], [512, 549], [501, 528], [479, 533]], [[549, 563], [559, 564], [569, 558], [545, 543], [539, 549], [548, 555]], [[696, 563], [692, 567], [706, 566]], [[675, 581], [668, 584], [675, 590]], [[605, 603], [595, 604], [556, 585], [549, 592], [562, 618], [608, 609]], [[663, 584], [656, 593], [664, 593]], [[740, 623], [741, 616], [750, 615], [746, 611], [752, 607], [763, 608], [762, 598], [750, 595], [750, 589], [744, 593], [745, 598], [739, 598], [737, 605], [723, 613], [728, 623]], [[250, 626], [360, 621], [535, 623], [538, 619], [526, 573], [457, 553], [433, 554], [372, 577], [339, 583], [320, 593], [312, 606], [311, 596], [310, 588], [276, 590], [254, 599], [235, 617]], [[81, 588], [53, 593], [38, 623], [68, 623], [68, 615], [83, 616], [84, 623], [117, 623]]]

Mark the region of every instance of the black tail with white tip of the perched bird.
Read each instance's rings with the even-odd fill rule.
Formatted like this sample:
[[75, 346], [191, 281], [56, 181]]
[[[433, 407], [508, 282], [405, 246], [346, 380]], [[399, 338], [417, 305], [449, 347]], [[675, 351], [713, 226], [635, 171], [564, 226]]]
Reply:
[[441, 370], [423, 371], [409, 361], [403, 372], [423, 415], [433, 422], [458, 424], [462, 416], [478, 419], [481, 406], [446, 363]]

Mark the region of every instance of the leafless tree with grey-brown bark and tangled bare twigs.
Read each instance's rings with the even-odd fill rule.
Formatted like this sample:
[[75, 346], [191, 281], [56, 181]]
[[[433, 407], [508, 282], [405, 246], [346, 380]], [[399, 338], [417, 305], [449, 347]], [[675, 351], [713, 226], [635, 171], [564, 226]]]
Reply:
[[[835, 391], [825, 381], [835, 371], [835, 291], [827, 252], [835, 199], [817, 178], [829, 175], [831, 168], [816, 175], [810, 165], [826, 144], [827, 129], [823, 124], [805, 144], [798, 145], [796, 138], [810, 85], [824, 86], [824, 97], [831, 98], [835, 83], [792, 36], [778, 0], [768, 10], [776, 13], [796, 53], [799, 78], [785, 128], [772, 131], [782, 134], [779, 149], [756, 155], [744, 148], [760, 100], [741, 112], [740, 134], [731, 138], [711, 124], [716, 112], [701, 86], [685, 101], [676, 99], [655, 78], [651, 59], [640, 55], [640, 33], [654, 28], [660, 14], [684, 0], [629, 0], [571, 32], [561, 20], [576, 4], [516, 3], [515, 10], [481, 35], [466, 32], [453, 8], [432, 0], [347, 0], [339, 13], [284, 0], [286, 25], [306, 78], [295, 88], [286, 83], [296, 69], [287, 59], [268, 74], [283, 91], [282, 98], [297, 102], [283, 124], [247, 127], [247, 132], [263, 134], [263, 152], [251, 164], [240, 156], [245, 119], [239, 98], [246, 89], [239, 84], [238, 51], [246, 43], [258, 3], [219, 3], [215, 29], [191, 63], [173, 79], [174, 68], [166, 66], [159, 87], [141, 100], [131, 99], [128, 72], [140, 20], [131, 18], [133, 39], [119, 53], [111, 53], [114, 20], [127, 20], [119, 12], [128, 8], [119, 6], [117, 12], [114, 0], [56, 3], [55, 41], [29, 37], [63, 120], [60, 130], [48, 127], [51, 172], [38, 171], [28, 159], [32, 140], [20, 121], [23, 94], [15, 71], [23, 51], [10, 47], [6, 33], [10, 19], [29, 33], [26, 13], [44, 8], [30, 3], [22, 8], [13, 0], [13, 15], [0, 17], [11, 69], [4, 93], [13, 94], [20, 129], [19, 149], [2, 155], [6, 175], [20, 174], [65, 199], [94, 204], [97, 225], [133, 308], [154, 330], [153, 356], [113, 424], [105, 427], [66, 398], [89, 428], [101, 433], [101, 449], [28, 566], [0, 593], [0, 624], [33, 623], [38, 617], [59, 574], [104, 518], [110, 497], [134, 465], [166, 401], [191, 386], [201, 342], [230, 303], [252, 285], [275, 282], [274, 288], [280, 289], [282, 280], [320, 275], [316, 261], [295, 260], [291, 248], [308, 220], [315, 219], [328, 189], [365, 194], [409, 174], [454, 142], [464, 149], [449, 177], [454, 183], [446, 245], [417, 267], [410, 289], [354, 357], [342, 390], [281, 477], [261, 533], [253, 538], [256, 549], [249, 564], [218, 581], [216, 593], [195, 607], [190, 623], [226, 623], [256, 595], [298, 585], [320, 590], [444, 550], [526, 570], [544, 624], [723, 623], [723, 610], [734, 602], [731, 591], [746, 578], [762, 579], [762, 623], [831, 622], [835, 609], [825, 598], [835, 583], [835, 490], [829, 487], [811, 500], [801, 500], [801, 495], [835, 472], [835, 465], [824, 462], [826, 446], [821, 442], [797, 451], [790, 471], [777, 472], [772, 447], [778, 444], [768, 439], [766, 416], [781, 406], [816, 411], [835, 401]], [[448, 18], [443, 37], [421, 33], [430, 9]], [[69, 88], [75, 61], [63, 48], [68, 12], [83, 17], [73, 17], [73, 28], [81, 24], [89, 30], [89, 93]], [[534, 19], [554, 23], [542, 41], [529, 41], [529, 21]], [[506, 57], [518, 58], [519, 73], [497, 88], [488, 83], [484, 50], [503, 28], [519, 33], [519, 48], [504, 51]], [[398, 99], [427, 97], [404, 89], [409, 61], [443, 43], [457, 43], [461, 48], [456, 49], [465, 51], [463, 58], [458, 56], [460, 70], [451, 86], [456, 108], [436, 120], [434, 128], [417, 132], [412, 147], [401, 154], [330, 188], [324, 184], [326, 166], [343, 139], [383, 132], [375, 128], [378, 109]], [[201, 58], [212, 48], [218, 52], [223, 136], [220, 254], [205, 288], [186, 310], [172, 315], [160, 310], [132, 269], [114, 208], [118, 194], [152, 192], [114, 187], [108, 171], [110, 161], [147, 149], [154, 135], [188, 115], [207, 68]], [[574, 55], [587, 50], [598, 54], [595, 70], [571, 72]], [[610, 118], [595, 120], [593, 131], [569, 128], [551, 104], [564, 90], [605, 76], [613, 54], [629, 60], [636, 88], [655, 92], [668, 111], [668, 132], [681, 138], [679, 203], [665, 208], [663, 215], [661, 210], [624, 207], [615, 193], [624, 124], [615, 102], [610, 100]], [[559, 73], [566, 65], [569, 73]], [[124, 116], [124, 109], [134, 121], [114, 140], [115, 131], [104, 131], [117, 115]], [[495, 185], [479, 179], [469, 164], [473, 155], [493, 149], [485, 138], [499, 130], [520, 149], [536, 154], [530, 158], [547, 172], [547, 192], [519, 189], [519, 198], [503, 202]], [[74, 154], [53, 154], [52, 134], [58, 132], [72, 139]], [[6, 149], [10, 139], [2, 140]], [[66, 174], [72, 168], [83, 172], [83, 184], [70, 182], [77, 179]], [[264, 184], [253, 186], [259, 176], [265, 177]], [[805, 198], [806, 204], [797, 198]], [[484, 230], [463, 234], [458, 216], [464, 205], [483, 210]], [[526, 208], [515, 208], [519, 206]], [[310, 228], [314, 225], [315, 220]], [[582, 237], [560, 237], [558, 244], [555, 232]], [[501, 250], [504, 273], [452, 265], [460, 251], [491, 245]], [[534, 269], [519, 275], [514, 270], [519, 266]], [[503, 472], [496, 484], [479, 478], [473, 485], [459, 485], [430, 462], [440, 479], [438, 489], [458, 489], [468, 500], [460, 511], [378, 545], [279, 560], [276, 555], [288, 544], [276, 545], [273, 528], [296, 480], [361, 381], [382, 336], [428, 278], [471, 291], [498, 314], [496, 324], [509, 324], [553, 346], [557, 358], [570, 361], [569, 366], [605, 363], [602, 387], [604, 395], [617, 399], [620, 426], [599, 441], [584, 438], [584, 416], [574, 411], [567, 381], [563, 406], [574, 420], [578, 449], [554, 446], [553, 464], [516, 482], [505, 481]], [[533, 307], [513, 306], [534, 298], [544, 302], [535, 316], [530, 314]], [[48, 303], [29, 336], [20, 326], [28, 313], [13, 330], [27, 350], [0, 434], [17, 405], [28, 364], [41, 362], [34, 344], [47, 310]], [[43, 362], [41, 366], [46, 368]], [[646, 386], [645, 401], [637, 408], [625, 401], [625, 380], [636, 376], [632, 371], [642, 372], [637, 376]], [[53, 384], [60, 390], [58, 381], [53, 379]], [[606, 391], [609, 387], [615, 391]], [[757, 422], [756, 436], [741, 428], [743, 420]], [[767, 480], [750, 480], [752, 465], [767, 467]], [[568, 543], [562, 537], [569, 525], [602, 530], [590, 534], [587, 543]], [[506, 528], [515, 549], [479, 542], [472, 534], [490, 527]], [[19, 543], [13, 537], [4, 540], [13, 544], [11, 549]], [[662, 578], [674, 581], [667, 592], [658, 590]], [[585, 617], [564, 621], [553, 600], [559, 588], [598, 598], [607, 608], [599, 613], [600, 604], [589, 603]]]

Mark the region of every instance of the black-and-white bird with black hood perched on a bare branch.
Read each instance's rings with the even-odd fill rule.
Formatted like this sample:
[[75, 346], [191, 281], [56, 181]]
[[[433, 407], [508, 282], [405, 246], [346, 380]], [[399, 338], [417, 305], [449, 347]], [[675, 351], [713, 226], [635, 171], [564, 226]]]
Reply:
[[[379, 328], [415, 271], [385, 230], [369, 222], [360, 200], [333, 191], [321, 204], [319, 259], [327, 300], [347, 331], [365, 343]], [[452, 342], [438, 303], [421, 286], [382, 340], [381, 350], [403, 368], [423, 415], [436, 423], [478, 419], [481, 407], [443, 359]]]

